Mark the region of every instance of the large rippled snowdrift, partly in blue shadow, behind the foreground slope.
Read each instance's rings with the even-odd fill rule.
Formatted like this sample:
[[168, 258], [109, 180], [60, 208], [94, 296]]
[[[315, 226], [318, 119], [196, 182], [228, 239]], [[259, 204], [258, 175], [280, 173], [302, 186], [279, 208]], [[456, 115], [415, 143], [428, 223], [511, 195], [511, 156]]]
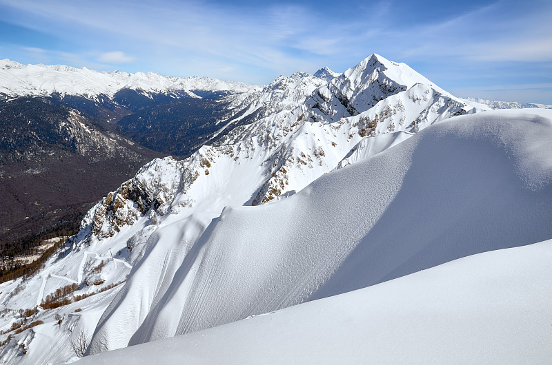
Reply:
[[[549, 111], [458, 116], [326, 174], [284, 200], [227, 207], [183, 255], [172, 282], [152, 302], [128, 344], [346, 293], [475, 253], [547, 240], [552, 237], [551, 138]], [[161, 227], [148, 244], [177, 242], [179, 234], [172, 226]], [[147, 258], [141, 260], [144, 265], [164, 270]], [[150, 292], [161, 290], [142, 285]], [[493, 285], [509, 295], [504, 294], [511, 287], [507, 277]], [[542, 293], [531, 295], [537, 301]], [[431, 313], [434, 298], [423, 298], [418, 308], [425, 305]], [[124, 331], [127, 319], [111, 314], [124, 301], [119, 295], [102, 316], [91, 353], [121, 346], [113, 325]], [[522, 304], [524, 311], [533, 311], [532, 300]], [[324, 302], [319, 305], [323, 308]], [[413, 314], [408, 317], [411, 302], [395, 305], [404, 308], [397, 313], [405, 322], [415, 320]], [[504, 315], [511, 311], [504, 308]], [[458, 303], [457, 315], [473, 310], [471, 304]], [[493, 310], [486, 307], [482, 313], [487, 313], [480, 318], [484, 326]], [[432, 337], [441, 330], [435, 331]], [[464, 337], [471, 340], [467, 333]]]

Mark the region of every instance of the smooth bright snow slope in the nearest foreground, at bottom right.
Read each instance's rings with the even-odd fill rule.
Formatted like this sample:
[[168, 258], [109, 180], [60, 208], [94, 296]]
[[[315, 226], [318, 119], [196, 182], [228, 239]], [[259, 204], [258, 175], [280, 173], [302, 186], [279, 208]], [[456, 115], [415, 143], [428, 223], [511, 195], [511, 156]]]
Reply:
[[552, 240], [76, 364], [548, 364]]

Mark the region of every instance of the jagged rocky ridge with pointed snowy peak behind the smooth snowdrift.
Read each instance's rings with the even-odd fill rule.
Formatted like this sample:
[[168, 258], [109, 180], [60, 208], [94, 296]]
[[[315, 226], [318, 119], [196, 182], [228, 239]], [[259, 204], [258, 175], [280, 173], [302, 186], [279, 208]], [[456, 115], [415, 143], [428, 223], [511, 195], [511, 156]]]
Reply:
[[[343, 166], [344, 158], [353, 163], [351, 156], [366, 149], [369, 137], [389, 139], [391, 144], [435, 121], [485, 110], [482, 105], [444, 92], [410, 67], [381, 56], [368, 57], [329, 83], [309, 74], [281, 76], [262, 91], [240, 94], [233, 105], [238, 109], [250, 105], [243, 117], [257, 118], [234, 127], [215, 145], [201, 147], [181, 163], [166, 158], [144, 167], [142, 171], [168, 168], [164, 176], [182, 176], [181, 183], [160, 185], [159, 190], [168, 189], [172, 199], [179, 194], [186, 196], [194, 184], [209, 185], [217, 160], [223, 159], [224, 169], [228, 169], [228, 160], [241, 164], [260, 159], [264, 172], [259, 179], [264, 183], [247, 202], [262, 204], [299, 191], [322, 174]], [[239, 121], [232, 121], [230, 126], [233, 124]], [[145, 183], [141, 174], [132, 180], [137, 189], [141, 185], [136, 180]], [[153, 201], [157, 196], [148, 199]], [[195, 196], [192, 199], [197, 200]], [[172, 202], [164, 199], [161, 204], [166, 207]], [[108, 216], [95, 217], [95, 226], [103, 225], [102, 221], [107, 227], [111, 225]]]

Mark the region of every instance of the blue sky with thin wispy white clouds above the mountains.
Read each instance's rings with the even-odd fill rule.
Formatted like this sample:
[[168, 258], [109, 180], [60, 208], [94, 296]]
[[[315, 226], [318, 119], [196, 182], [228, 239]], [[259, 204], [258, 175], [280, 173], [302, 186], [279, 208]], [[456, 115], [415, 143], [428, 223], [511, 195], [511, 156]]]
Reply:
[[264, 85], [372, 53], [460, 97], [552, 105], [552, 1], [0, 0], [0, 59]]

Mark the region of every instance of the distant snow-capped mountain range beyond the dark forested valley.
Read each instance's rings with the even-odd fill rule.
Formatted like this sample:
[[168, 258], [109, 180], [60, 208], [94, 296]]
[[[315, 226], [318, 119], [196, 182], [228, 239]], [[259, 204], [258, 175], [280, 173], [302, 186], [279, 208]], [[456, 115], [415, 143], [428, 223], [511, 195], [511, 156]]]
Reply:
[[[141, 90], [144, 93], [167, 93], [179, 90], [246, 91], [252, 85], [220, 81], [207, 77], [180, 78], [161, 76], [154, 72], [97, 72], [86, 67], [77, 69], [66, 65], [23, 65], [8, 59], [0, 60], [0, 94], [8, 96], [65, 95], [95, 98], [100, 94], [112, 97], [121, 89]], [[189, 93], [190, 96], [195, 96]], [[196, 96], [197, 97], [197, 96]]]

